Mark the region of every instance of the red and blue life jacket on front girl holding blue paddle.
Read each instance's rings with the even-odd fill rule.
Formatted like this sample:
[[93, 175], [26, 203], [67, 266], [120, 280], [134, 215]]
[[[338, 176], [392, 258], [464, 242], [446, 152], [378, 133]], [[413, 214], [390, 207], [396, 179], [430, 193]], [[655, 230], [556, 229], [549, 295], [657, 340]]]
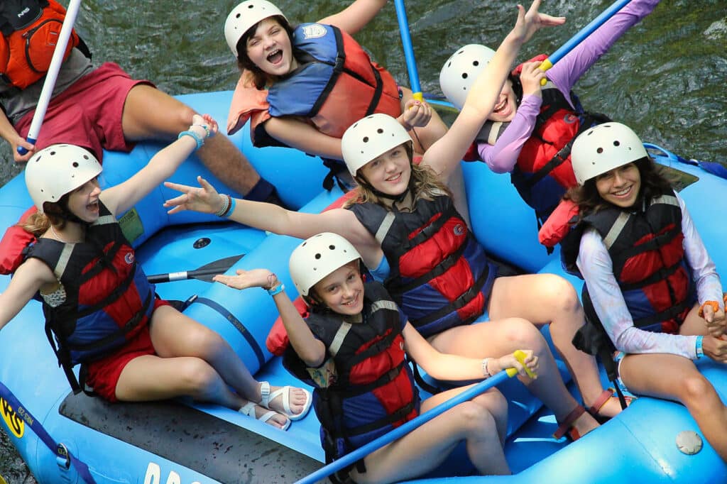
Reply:
[[364, 288], [359, 322], [315, 309], [306, 320], [326, 346], [326, 358], [334, 363], [333, 376], [315, 376], [316, 369], [306, 368], [292, 347], [284, 357], [292, 374], [315, 387], [313, 408], [321, 422], [327, 462], [419, 414], [419, 392], [404, 358], [401, 331], [406, 318], [380, 283], [369, 282]]

